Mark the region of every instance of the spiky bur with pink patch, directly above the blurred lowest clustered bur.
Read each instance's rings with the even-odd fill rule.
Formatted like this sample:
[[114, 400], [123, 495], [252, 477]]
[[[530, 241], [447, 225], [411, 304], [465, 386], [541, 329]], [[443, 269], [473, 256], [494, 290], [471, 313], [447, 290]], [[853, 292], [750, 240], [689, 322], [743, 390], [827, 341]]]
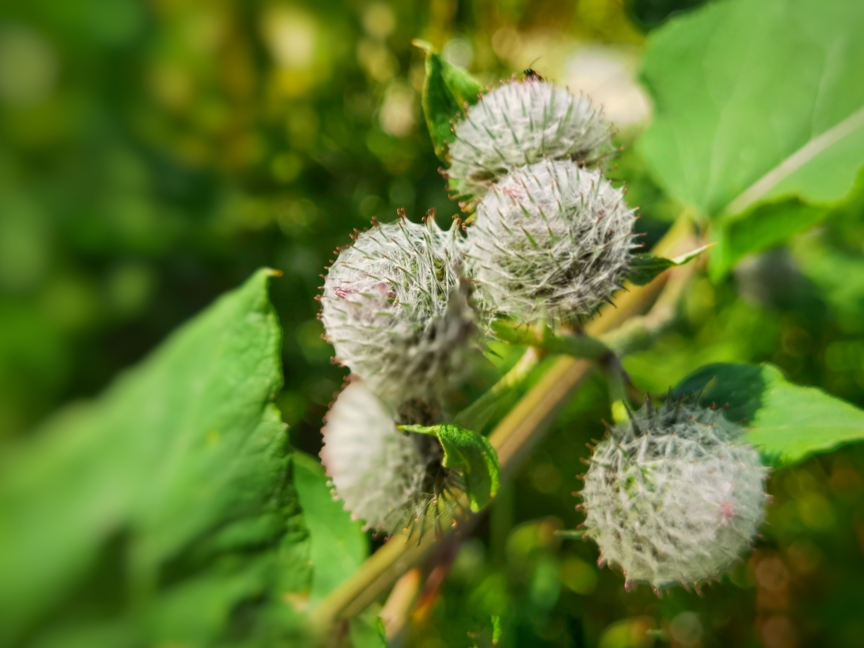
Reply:
[[[476, 331], [461, 281], [458, 224], [375, 224], [327, 273], [321, 321], [336, 359], [393, 407], [434, 401]], [[411, 420], [408, 422], [418, 422]]]

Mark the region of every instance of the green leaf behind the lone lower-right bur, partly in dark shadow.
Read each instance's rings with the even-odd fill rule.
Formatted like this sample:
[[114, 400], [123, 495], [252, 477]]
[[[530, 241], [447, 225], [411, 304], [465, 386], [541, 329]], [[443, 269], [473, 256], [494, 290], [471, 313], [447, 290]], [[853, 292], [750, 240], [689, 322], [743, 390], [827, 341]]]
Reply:
[[730, 420], [746, 422], [747, 441], [775, 466], [864, 441], [864, 411], [816, 387], [788, 382], [774, 365], [707, 365], [672, 393], [699, 391], [702, 404], [727, 407]]

